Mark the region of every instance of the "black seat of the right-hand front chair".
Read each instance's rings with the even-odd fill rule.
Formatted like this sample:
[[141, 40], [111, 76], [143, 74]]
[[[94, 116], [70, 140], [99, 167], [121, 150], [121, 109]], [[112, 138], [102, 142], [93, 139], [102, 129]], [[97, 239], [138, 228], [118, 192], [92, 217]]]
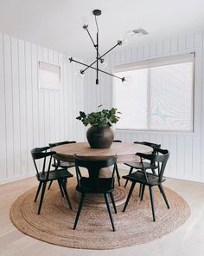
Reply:
[[136, 182], [142, 183], [144, 185], [150, 185], [150, 186], [157, 186], [166, 180], [163, 177], [162, 181], [159, 181], [159, 177], [157, 175], [147, 173], [148, 181], [146, 181], [145, 175], [143, 174], [142, 171], [137, 171], [133, 174], [125, 175], [125, 176], [123, 176], [123, 178], [125, 180], [136, 181]]

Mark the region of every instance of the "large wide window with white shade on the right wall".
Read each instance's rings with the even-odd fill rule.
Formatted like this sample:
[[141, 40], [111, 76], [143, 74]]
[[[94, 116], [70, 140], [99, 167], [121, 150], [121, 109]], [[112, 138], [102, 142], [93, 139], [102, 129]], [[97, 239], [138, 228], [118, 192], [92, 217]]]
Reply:
[[137, 62], [115, 68], [131, 76], [114, 81], [114, 105], [121, 111], [118, 129], [194, 130], [194, 54]]

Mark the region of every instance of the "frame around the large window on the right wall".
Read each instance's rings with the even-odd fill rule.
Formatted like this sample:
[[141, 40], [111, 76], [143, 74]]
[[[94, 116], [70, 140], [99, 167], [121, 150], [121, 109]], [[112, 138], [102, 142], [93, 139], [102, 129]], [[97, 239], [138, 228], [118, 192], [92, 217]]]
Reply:
[[[192, 56], [193, 57], [193, 90], [192, 90], [192, 96], [193, 96], [193, 109], [192, 109], [192, 126], [193, 126], [193, 129], [190, 130], [190, 131], [185, 131], [185, 130], [174, 130], [174, 129], [153, 129], [153, 128], [115, 128], [116, 131], [136, 131], [136, 132], [153, 132], [153, 133], [168, 133], [168, 134], [182, 134], [182, 135], [194, 135], [195, 133], [195, 115], [194, 115], [194, 108], [195, 108], [195, 63], [196, 63], [196, 59], [195, 59], [195, 50], [193, 51], [190, 51], [190, 52], [184, 52], [182, 54], [177, 54], [177, 55], [168, 55], [168, 56], [158, 56], [158, 57], [152, 57], [152, 58], [146, 58], [146, 59], [142, 59], [142, 60], [139, 60], [137, 62], [125, 62], [123, 64], [120, 64], [120, 65], [116, 65], [113, 67], [112, 69], [112, 73], [116, 73], [116, 72], [124, 72], [124, 71], [129, 71], [129, 70], [132, 70], [134, 69], [134, 67], [139, 67], [139, 68], [135, 68], [135, 69], [147, 69], [147, 68], [150, 68], [150, 66], [144, 66], [145, 65], [145, 62], [159, 62], [160, 60], [170, 60], [171, 58], [174, 59], [174, 58], [177, 58], [179, 59], [180, 57], [184, 57], [185, 56]], [[184, 61], [182, 61], [184, 62]], [[177, 62], [177, 63], [182, 63], [182, 62]], [[186, 62], [191, 62], [191, 61], [186, 61]], [[176, 63], [176, 62], [175, 62]], [[170, 64], [174, 64], [173, 62], [172, 63], [169, 63]], [[164, 66], [165, 64], [163, 65], [158, 65], [158, 66]], [[143, 67], [142, 67], [143, 66]], [[151, 66], [151, 67], [158, 67], [157, 65], [155, 66]], [[125, 70], [126, 69], [126, 70]], [[115, 82], [113, 82], [112, 80], [112, 103], [113, 105], [115, 105], [116, 103], [116, 99], [115, 99], [115, 95], [116, 95], [116, 87], [117, 85], [115, 84]], [[147, 104], [147, 108], [148, 108], [148, 105], [150, 105], [150, 101], [148, 101], [148, 104]]]

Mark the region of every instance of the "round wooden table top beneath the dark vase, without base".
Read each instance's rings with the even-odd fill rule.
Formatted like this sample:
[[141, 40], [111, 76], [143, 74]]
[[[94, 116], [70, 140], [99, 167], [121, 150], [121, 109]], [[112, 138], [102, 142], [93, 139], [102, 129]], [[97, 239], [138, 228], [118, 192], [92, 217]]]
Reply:
[[112, 155], [118, 155], [118, 162], [138, 161], [136, 153], [151, 154], [152, 148], [140, 144], [113, 142], [111, 148], [90, 148], [87, 142], [77, 142], [52, 148], [54, 156], [61, 161], [73, 161], [73, 154], [92, 160], [101, 160]]

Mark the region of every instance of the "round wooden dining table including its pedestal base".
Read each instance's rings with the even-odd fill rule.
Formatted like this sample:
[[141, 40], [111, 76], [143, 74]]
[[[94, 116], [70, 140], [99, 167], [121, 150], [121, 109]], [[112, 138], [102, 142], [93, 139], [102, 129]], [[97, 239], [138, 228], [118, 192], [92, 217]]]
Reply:
[[[54, 158], [60, 161], [74, 161], [74, 154], [86, 157], [86, 159], [89, 160], [102, 160], [117, 154], [118, 163], [124, 163], [125, 161], [139, 161], [136, 153], [140, 152], [144, 154], [151, 154], [152, 150], [153, 149], [148, 146], [126, 142], [113, 142], [111, 148], [90, 148], [87, 142], [70, 143], [52, 148], [52, 151], [56, 152]], [[107, 177], [109, 175], [110, 171], [108, 168], [101, 169], [100, 176]], [[115, 202], [116, 205], [121, 205], [126, 199], [126, 191], [124, 186], [119, 187], [118, 183], [115, 183], [113, 193]], [[76, 193], [75, 199], [77, 201], [80, 200], [80, 195], [78, 193]], [[89, 196], [86, 196], [85, 203], [92, 207], [105, 207], [104, 199], [99, 194], [90, 194]]]

